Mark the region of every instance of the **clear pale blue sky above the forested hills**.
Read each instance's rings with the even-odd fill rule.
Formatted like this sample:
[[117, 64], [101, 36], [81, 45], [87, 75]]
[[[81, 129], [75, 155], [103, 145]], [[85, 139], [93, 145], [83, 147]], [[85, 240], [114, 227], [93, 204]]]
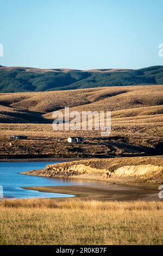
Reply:
[[162, 0], [0, 0], [0, 65], [163, 65]]

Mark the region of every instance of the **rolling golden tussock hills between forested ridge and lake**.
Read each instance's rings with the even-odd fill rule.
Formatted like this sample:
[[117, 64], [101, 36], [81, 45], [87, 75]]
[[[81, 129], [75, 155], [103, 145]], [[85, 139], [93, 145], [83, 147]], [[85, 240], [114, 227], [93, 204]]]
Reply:
[[[124, 86], [0, 94], [1, 158], [7, 156], [108, 157], [162, 154], [163, 87]], [[111, 135], [101, 131], [54, 131], [52, 112], [111, 111]], [[27, 135], [26, 141], [9, 136]], [[84, 144], [68, 144], [82, 136]], [[58, 143], [61, 138], [61, 143]]]

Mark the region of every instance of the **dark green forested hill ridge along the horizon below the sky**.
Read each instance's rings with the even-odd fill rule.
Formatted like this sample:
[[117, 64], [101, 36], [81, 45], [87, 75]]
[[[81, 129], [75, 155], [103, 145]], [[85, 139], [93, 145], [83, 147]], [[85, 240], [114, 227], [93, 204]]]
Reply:
[[131, 69], [36, 69], [0, 65], [0, 92], [45, 92], [110, 86], [163, 84], [163, 66]]

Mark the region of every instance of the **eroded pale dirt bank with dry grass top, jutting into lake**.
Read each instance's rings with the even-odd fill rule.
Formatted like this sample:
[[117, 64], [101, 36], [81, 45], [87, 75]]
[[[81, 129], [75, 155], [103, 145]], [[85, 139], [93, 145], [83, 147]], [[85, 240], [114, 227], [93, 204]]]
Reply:
[[131, 180], [163, 184], [163, 159], [156, 157], [121, 157], [116, 159], [80, 160], [49, 164], [43, 170], [31, 170], [21, 174], [73, 178], [83, 174], [99, 179], [131, 178]]

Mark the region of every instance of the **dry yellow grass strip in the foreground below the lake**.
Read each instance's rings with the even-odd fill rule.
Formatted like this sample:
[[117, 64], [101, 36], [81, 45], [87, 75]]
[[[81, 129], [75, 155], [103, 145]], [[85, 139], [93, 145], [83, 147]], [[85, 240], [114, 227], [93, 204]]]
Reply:
[[162, 245], [163, 204], [2, 200], [1, 245]]

